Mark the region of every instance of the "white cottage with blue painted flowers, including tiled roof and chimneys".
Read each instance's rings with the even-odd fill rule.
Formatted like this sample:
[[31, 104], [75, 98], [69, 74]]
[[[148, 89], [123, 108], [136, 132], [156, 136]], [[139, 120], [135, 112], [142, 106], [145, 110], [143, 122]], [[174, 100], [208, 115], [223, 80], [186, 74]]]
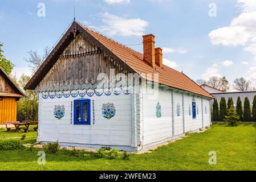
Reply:
[[154, 35], [143, 50], [74, 21], [25, 86], [39, 92], [37, 140], [137, 151], [210, 126], [213, 97], [162, 64]]

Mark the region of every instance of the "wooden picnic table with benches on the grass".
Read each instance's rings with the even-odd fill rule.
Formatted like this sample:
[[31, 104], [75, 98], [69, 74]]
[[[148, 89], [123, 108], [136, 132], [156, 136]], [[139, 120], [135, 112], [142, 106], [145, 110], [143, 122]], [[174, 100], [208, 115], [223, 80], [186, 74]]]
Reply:
[[[11, 131], [14, 130], [14, 132], [18, 131], [19, 133], [21, 133], [21, 130], [23, 129], [25, 133], [27, 133], [29, 130], [30, 125], [36, 125], [35, 127], [32, 127], [34, 129], [34, 131], [36, 131], [38, 129], [38, 121], [32, 121], [32, 122], [4, 122], [4, 124], [6, 125], [6, 129], [7, 131]], [[14, 127], [10, 127], [8, 125], [14, 125]]]

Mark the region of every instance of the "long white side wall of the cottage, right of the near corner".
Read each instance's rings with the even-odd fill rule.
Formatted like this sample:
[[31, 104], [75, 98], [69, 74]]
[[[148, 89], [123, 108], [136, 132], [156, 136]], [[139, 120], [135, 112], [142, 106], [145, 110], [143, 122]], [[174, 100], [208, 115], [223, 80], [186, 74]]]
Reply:
[[[143, 87], [143, 144], [157, 143], [167, 138], [176, 137], [188, 131], [199, 130], [202, 128], [202, 116], [204, 117], [204, 127], [210, 126], [210, 107], [209, 100], [194, 96], [198, 106], [198, 114], [193, 119], [191, 94], [184, 94], [184, 125], [182, 113], [182, 93], [173, 92], [173, 113], [172, 113], [172, 92], [159, 88], [159, 97], [149, 100], [149, 95]], [[156, 105], [160, 102], [162, 117], [156, 117]], [[180, 105], [180, 115], [177, 113], [177, 105]], [[202, 106], [203, 104], [203, 106]], [[189, 115], [189, 105], [191, 113]], [[206, 114], [205, 114], [206, 105]], [[202, 108], [204, 114], [202, 115]], [[172, 114], [174, 118], [174, 135], [172, 135]], [[185, 129], [184, 129], [185, 127]]]

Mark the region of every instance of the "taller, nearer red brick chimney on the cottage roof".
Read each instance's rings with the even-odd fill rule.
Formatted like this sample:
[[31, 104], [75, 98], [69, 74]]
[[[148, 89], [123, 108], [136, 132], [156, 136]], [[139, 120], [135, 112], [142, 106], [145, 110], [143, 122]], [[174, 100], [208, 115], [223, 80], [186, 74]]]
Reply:
[[155, 67], [155, 35], [143, 35], [143, 58], [149, 65]]

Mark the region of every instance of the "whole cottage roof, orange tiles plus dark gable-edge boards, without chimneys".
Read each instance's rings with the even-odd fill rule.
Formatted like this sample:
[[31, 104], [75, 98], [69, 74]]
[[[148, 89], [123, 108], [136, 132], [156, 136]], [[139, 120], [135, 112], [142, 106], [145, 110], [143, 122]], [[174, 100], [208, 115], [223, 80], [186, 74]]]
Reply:
[[[100, 43], [101, 46], [107, 48], [109, 52], [113, 53], [113, 55], [115, 55], [124, 63], [124, 66], [125, 64], [128, 65], [128, 67], [132, 68], [133, 71], [136, 71], [139, 74], [159, 73], [160, 84], [196, 93], [201, 96], [214, 98], [199, 85], [197, 85], [194, 81], [192, 81], [189, 77], [184, 75], [184, 73], [178, 72], [172, 68], [167, 67], [166, 65], [164, 65], [163, 68], [157, 66], [153, 68], [144, 61], [143, 55], [140, 52], [134, 51], [133, 49], [123, 46], [115, 40], [109, 39], [106, 36], [92, 31], [90, 28], [84, 27], [79, 22], [73, 22], [69, 30], [63, 36], [62, 40], [60, 40], [54, 50], [52, 50], [46, 61], [44, 61], [38, 71], [36, 71], [35, 75], [32, 76], [31, 80], [25, 86], [25, 89], [34, 89], [35, 86], [39, 84], [40, 80], [42, 80], [43, 76], [50, 69], [50, 67], [47, 67], [47, 65], [51, 63], [53, 59], [52, 57], [54, 57], [54, 54], [58, 52], [58, 49], [60, 47], [62, 47], [62, 44], [64, 44], [64, 42], [68, 40], [68, 35], [72, 34], [72, 31], [76, 26], [82, 29], [86, 36], [90, 36], [90, 38], [94, 39], [94, 43]], [[51, 63], [51, 65], [53, 65], [53, 63]], [[150, 79], [148, 78], [148, 80]]]

